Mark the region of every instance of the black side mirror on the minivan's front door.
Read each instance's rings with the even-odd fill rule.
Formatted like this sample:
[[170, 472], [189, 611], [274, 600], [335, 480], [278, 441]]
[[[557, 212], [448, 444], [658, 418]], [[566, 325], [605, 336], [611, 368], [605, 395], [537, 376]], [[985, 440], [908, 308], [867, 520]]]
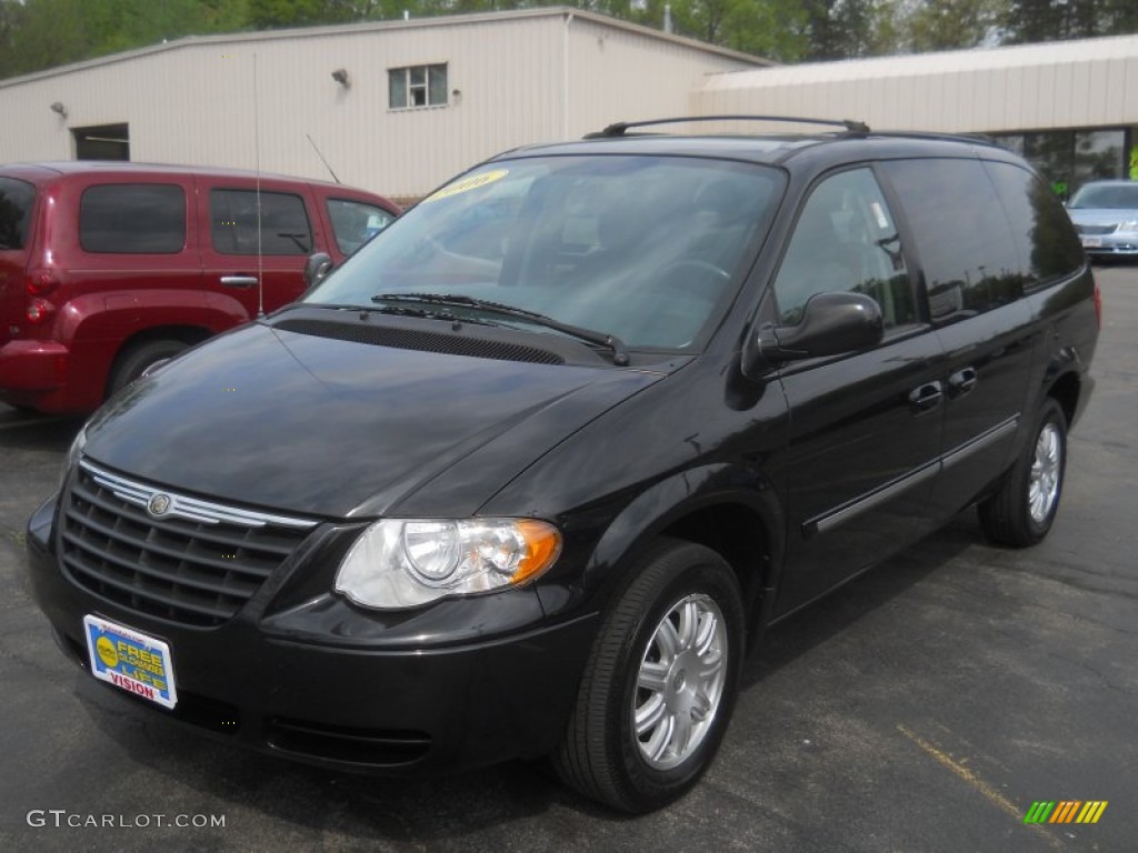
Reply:
[[759, 329], [744, 356], [744, 371], [868, 349], [880, 343], [884, 333], [881, 306], [872, 297], [817, 293], [806, 304], [797, 325], [768, 323]]

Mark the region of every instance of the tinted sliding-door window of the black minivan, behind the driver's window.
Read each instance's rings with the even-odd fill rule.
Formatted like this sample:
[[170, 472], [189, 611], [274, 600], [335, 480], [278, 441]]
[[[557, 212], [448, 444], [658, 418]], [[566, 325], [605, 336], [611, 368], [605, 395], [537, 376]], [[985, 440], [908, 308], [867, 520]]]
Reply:
[[979, 160], [883, 165], [913, 226], [934, 321], [991, 310], [1023, 295], [1028, 271]]

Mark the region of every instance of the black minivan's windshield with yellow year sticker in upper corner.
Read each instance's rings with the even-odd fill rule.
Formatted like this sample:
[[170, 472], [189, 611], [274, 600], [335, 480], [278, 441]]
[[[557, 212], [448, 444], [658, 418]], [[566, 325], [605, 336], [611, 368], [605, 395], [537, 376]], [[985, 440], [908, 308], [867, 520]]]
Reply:
[[[782, 185], [768, 167], [690, 157], [493, 163], [409, 210], [304, 301], [468, 297], [633, 348], [684, 349], [734, 296]], [[558, 333], [521, 316], [454, 313]]]

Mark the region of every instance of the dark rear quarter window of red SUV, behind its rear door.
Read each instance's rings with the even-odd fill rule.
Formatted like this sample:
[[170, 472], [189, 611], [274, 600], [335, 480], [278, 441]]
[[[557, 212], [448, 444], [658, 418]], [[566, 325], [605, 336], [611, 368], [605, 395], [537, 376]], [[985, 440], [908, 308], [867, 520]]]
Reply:
[[176, 184], [113, 183], [83, 190], [83, 251], [174, 255], [185, 246], [185, 192]]

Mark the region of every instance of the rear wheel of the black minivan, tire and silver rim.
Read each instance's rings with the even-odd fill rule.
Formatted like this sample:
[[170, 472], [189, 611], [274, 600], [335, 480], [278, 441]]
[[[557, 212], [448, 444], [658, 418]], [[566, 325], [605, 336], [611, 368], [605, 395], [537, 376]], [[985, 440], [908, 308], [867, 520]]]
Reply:
[[1031, 440], [999, 490], [978, 506], [980, 525], [993, 543], [1024, 548], [1052, 529], [1066, 469], [1066, 415], [1047, 398]]

